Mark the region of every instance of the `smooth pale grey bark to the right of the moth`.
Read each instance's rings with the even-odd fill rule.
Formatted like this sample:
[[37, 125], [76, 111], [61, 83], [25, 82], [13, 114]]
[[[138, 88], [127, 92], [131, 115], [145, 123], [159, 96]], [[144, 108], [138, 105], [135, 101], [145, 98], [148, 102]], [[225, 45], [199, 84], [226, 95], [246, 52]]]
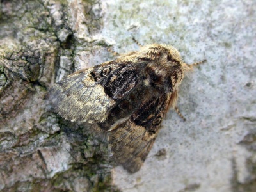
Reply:
[[134, 37], [143, 45], [173, 45], [186, 63], [207, 59], [180, 84], [186, 122], [170, 111], [140, 171], [115, 168], [118, 188], [256, 191], [256, 1], [107, 4], [102, 36], [115, 42], [115, 51], [138, 49]]

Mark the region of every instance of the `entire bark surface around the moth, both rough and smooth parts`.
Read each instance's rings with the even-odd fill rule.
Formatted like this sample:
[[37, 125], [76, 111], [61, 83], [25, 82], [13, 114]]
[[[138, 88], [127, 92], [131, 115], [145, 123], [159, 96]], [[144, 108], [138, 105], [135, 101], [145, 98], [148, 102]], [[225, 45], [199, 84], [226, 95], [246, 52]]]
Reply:
[[[256, 191], [255, 0], [0, 3], [0, 190]], [[207, 62], [180, 85], [187, 121], [170, 111], [129, 174], [111, 168], [104, 137], [53, 113], [45, 93], [111, 60], [109, 45], [138, 50], [132, 37]]]

